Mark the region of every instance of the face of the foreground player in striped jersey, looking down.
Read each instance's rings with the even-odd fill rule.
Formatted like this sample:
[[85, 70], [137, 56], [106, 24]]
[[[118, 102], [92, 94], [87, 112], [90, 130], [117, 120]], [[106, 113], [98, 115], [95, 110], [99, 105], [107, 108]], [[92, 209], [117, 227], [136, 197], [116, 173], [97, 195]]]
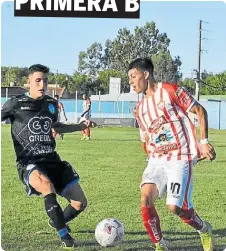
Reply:
[[129, 70], [129, 84], [136, 93], [145, 93], [148, 88], [148, 74], [136, 68]]

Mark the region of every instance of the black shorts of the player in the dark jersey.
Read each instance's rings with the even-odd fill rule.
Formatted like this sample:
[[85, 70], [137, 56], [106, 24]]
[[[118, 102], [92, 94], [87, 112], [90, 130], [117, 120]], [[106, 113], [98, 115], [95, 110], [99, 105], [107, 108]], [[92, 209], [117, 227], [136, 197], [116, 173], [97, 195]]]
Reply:
[[57, 159], [55, 161], [39, 161], [29, 164], [17, 163], [17, 169], [20, 180], [26, 188], [28, 196], [40, 195], [30, 184], [29, 176], [34, 170], [40, 171], [46, 175], [52, 182], [57, 194], [62, 196], [63, 190], [70, 184], [79, 181], [79, 175], [67, 161]]

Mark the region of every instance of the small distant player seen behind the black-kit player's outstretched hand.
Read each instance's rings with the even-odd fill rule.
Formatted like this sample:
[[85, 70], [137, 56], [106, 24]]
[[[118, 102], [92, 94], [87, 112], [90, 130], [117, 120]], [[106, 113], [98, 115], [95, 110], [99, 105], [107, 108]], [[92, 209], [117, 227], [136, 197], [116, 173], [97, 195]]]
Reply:
[[[83, 113], [81, 115], [80, 121], [89, 120], [91, 116], [91, 100], [87, 94], [82, 95], [83, 99]], [[83, 137], [81, 140], [90, 140], [90, 127], [82, 131]]]

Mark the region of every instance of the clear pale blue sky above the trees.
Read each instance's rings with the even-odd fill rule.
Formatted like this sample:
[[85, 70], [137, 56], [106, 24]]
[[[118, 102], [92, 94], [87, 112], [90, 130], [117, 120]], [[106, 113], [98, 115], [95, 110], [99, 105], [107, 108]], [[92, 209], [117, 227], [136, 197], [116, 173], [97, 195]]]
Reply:
[[1, 5], [1, 65], [48, 65], [72, 74], [78, 55], [92, 43], [104, 45], [120, 28], [131, 31], [154, 21], [171, 40], [171, 55], [180, 56], [183, 77], [198, 65], [198, 27], [203, 20], [201, 70], [226, 70], [226, 4], [224, 2], [141, 2], [140, 19], [14, 17], [13, 2]]

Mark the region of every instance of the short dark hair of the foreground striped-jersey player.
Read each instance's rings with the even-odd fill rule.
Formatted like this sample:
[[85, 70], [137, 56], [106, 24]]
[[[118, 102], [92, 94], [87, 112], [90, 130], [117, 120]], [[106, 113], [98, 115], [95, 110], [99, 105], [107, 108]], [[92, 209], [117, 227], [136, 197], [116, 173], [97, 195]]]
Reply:
[[137, 58], [129, 64], [128, 71], [137, 69], [142, 72], [148, 71], [151, 78], [154, 78], [154, 65], [150, 58]]

